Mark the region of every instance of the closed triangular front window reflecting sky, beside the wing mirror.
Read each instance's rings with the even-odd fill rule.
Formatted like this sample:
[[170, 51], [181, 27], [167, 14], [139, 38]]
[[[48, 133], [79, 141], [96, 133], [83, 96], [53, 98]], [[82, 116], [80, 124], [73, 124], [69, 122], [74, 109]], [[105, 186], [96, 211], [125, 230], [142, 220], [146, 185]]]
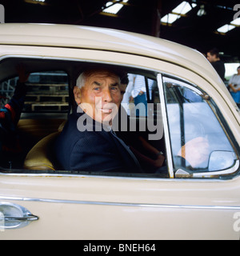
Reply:
[[197, 86], [163, 77], [170, 144], [177, 177], [210, 177], [238, 170], [238, 156], [217, 106]]

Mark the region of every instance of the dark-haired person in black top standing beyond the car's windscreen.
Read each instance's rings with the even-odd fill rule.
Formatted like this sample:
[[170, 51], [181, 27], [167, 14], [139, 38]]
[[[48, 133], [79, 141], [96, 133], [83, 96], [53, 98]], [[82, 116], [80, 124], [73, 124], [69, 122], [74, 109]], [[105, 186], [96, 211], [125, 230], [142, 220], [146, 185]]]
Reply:
[[225, 81], [225, 65], [224, 62], [220, 59], [219, 51], [218, 49], [214, 48], [212, 50], [209, 50], [207, 52], [206, 58], [209, 60], [209, 62], [212, 64], [214, 69], [218, 72], [220, 78], [222, 78], [222, 81]]

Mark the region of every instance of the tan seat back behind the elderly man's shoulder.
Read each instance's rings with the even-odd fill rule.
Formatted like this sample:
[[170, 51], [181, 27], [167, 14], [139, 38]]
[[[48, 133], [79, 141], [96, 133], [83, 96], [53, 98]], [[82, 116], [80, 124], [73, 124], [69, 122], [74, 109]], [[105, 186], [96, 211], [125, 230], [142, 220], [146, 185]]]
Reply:
[[53, 156], [53, 145], [60, 132], [42, 138], [26, 155], [24, 169], [26, 170], [56, 170]]

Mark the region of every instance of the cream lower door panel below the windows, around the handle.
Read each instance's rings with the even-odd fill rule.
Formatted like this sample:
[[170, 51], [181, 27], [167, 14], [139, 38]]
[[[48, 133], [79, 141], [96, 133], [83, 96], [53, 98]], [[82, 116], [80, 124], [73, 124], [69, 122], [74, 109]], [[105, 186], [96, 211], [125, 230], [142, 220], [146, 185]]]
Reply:
[[0, 180], [1, 202], [23, 206], [39, 217], [22, 229], [2, 230], [0, 239], [239, 238], [234, 231], [234, 214], [240, 212], [238, 179], [1, 176]]

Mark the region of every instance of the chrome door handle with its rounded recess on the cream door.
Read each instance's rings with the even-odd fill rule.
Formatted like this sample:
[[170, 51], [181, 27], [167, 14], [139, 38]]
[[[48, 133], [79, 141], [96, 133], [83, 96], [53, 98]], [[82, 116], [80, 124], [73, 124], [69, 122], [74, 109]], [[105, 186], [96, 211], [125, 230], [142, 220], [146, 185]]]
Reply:
[[29, 210], [9, 202], [0, 202], [0, 229], [19, 229], [38, 221], [38, 216]]

